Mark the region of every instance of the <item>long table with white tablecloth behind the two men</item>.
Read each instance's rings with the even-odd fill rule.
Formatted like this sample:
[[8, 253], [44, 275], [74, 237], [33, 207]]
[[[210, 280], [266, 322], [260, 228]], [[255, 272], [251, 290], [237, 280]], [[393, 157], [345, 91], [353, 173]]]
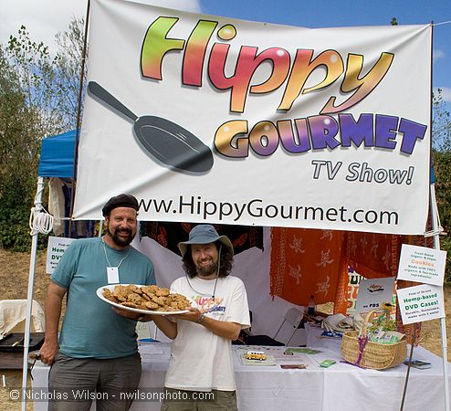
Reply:
[[[142, 379], [140, 390], [149, 393], [163, 387], [170, 343], [155, 342], [140, 346], [142, 353]], [[233, 346], [234, 351], [247, 347]], [[255, 347], [254, 347], [255, 348]], [[258, 347], [274, 354], [276, 365], [244, 365], [234, 353], [236, 394], [240, 411], [275, 409], [308, 409], [309, 411], [365, 411], [400, 409], [407, 367], [398, 365], [389, 370], [363, 370], [341, 363], [340, 352], [321, 350], [307, 355], [306, 369], [282, 369], [280, 363], [296, 363], [291, 356], [284, 361], [287, 347]], [[411, 369], [404, 409], [445, 411], [442, 360], [421, 347], [414, 350], [415, 357], [433, 364], [427, 370]], [[320, 362], [333, 359], [337, 364], [320, 367]], [[33, 371], [33, 386], [47, 386], [48, 367], [37, 364]], [[448, 382], [449, 384], [449, 382]], [[142, 396], [143, 398], [144, 396]], [[43, 401], [35, 403], [35, 410], [45, 410]], [[131, 410], [159, 410], [158, 401], [135, 401]]]

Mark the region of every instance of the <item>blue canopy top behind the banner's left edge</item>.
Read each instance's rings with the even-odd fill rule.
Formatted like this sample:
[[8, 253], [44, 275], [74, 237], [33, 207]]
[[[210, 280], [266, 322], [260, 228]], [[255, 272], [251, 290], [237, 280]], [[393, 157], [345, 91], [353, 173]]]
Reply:
[[72, 178], [76, 130], [42, 140], [37, 174], [40, 177]]

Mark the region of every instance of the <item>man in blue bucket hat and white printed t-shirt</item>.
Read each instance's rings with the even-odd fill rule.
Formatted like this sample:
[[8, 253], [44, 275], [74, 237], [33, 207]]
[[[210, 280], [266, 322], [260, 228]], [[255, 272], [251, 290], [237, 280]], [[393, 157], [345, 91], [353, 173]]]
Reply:
[[[236, 410], [231, 343], [250, 320], [243, 281], [229, 276], [234, 248], [210, 225], [194, 227], [178, 247], [186, 275], [173, 281], [171, 292], [197, 307], [171, 319], [153, 316], [173, 340], [162, 410]], [[214, 400], [205, 401], [209, 392]]]

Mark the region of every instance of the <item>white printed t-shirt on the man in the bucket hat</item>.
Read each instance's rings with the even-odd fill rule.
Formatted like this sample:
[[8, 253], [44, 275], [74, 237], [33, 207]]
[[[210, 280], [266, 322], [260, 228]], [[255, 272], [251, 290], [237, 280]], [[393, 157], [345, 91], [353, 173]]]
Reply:
[[[191, 286], [190, 286], [191, 284]], [[215, 279], [173, 281], [171, 292], [178, 292], [197, 302], [199, 308], [212, 307]], [[228, 276], [217, 279], [215, 307], [205, 316], [218, 321], [232, 321], [241, 328], [250, 326], [246, 289], [243, 281]], [[169, 369], [164, 386], [189, 391], [235, 391], [231, 340], [192, 321], [177, 321]]]

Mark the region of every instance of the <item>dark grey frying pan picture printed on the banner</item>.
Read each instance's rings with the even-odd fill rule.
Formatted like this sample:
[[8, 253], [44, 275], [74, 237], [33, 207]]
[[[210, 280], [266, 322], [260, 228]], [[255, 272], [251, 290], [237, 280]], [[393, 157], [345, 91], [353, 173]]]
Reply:
[[142, 151], [153, 159], [182, 172], [206, 173], [213, 167], [210, 148], [180, 125], [162, 117], [136, 116], [95, 81], [89, 81], [88, 91], [133, 121], [133, 131]]

